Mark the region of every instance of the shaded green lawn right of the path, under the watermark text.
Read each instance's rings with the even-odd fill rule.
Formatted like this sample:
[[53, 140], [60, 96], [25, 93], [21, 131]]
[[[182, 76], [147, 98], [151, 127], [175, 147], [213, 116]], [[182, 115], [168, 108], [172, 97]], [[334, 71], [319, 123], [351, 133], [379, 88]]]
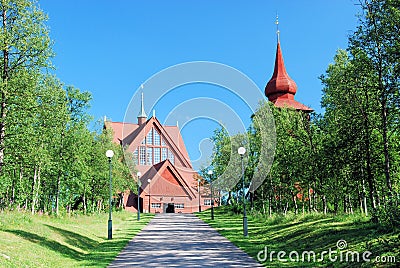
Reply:
[[[362, 215], [313, 214], [275, 216], [273, 218], [248, 215], [248, 238], [243, 237], [242, 215], [235, 215], [228, 208], [217, 208], [214, 221], [210, 220], [209, 210], [197, 215], [254, 259], [257, 259], [261, 250], [265, 252], [265, 247], [267, 247], [267, 258], [262, 262], [266, 267], [398, 267], [400, 264], [400, 231], [381, 228], [372, 224], [368, 218]], [[345, 240], [347, 243], [347, 246], [341, 251], [337, 248], [339, 240]], [[343, 245], [340, 244], [340, 246]], [[330, 261], [329, 255], [326, 253], [324, 261], [318, 261], [321, 253], [329, 251], [329, 248], [332, 251], [337, 250], [336, 255], [334, 253], [331, 255], [333, 260], [337, 256], [337, 260]], [[275, 252], [271, 259], [272, 251]], [[286, 252], [286, 255], [281, 257], [286, 261], [278, 260], [277, 253], [279, 251]], [[289, 258], [291, 251], [299, 254], [298, 262], [291, 261], [291, 259], [297, 258], [296, 253], [292, 253]], [[303, 262], [304, 251], [314, 251], [316, 262], [308, 262], [308, 253], [305, 253]], [[357, 255], [353, 255], [355, 251], [360, 254], [360, 262], [356, 261]], [[363, 261], [362, 254], [365, 251], [372, 252], [372, 255], [366, 255], [371, 260], [370, 262]], [[354, 261], [352, 256], [354, 256]], [[375, 260], [377, 256], [385, 256], [383, 259], [387, 259], [386, 263], [378, 263]], [[395, 256], [397, 265], [396, 263], [387, 263], [392, 260], [391, 256]], [[264, 258], [265, 254], [262, 253], [260, 257]], [[340, 262], [340, 258], [342, 258], [342, 262]]]

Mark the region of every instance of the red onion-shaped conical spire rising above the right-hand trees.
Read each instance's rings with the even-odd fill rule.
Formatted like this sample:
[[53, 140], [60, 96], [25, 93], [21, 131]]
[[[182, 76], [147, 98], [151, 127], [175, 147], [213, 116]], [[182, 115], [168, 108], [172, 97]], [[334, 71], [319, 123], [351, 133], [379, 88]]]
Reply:
[[294, 99], [297, 91], [297, 85], [286, 72], [285, 64], [281, 51], [281, 45], [278, 41], [276, 47], [274, 74], [265, 87], [265, 95], [272, 102], [277, 98]]

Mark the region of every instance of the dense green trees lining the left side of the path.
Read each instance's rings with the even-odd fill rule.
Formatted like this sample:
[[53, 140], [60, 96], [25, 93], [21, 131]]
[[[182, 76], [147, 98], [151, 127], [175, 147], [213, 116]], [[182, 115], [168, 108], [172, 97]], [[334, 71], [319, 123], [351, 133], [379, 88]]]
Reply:
[[115, 152], [115, 201], [134, 187], [122, 149], [103, 125], [89, 130], [91, 94], [48, 74], [52, 42], [38, 4], [2, 0], [0, 13], [0, 208], [107, 209], [106, 150]]

